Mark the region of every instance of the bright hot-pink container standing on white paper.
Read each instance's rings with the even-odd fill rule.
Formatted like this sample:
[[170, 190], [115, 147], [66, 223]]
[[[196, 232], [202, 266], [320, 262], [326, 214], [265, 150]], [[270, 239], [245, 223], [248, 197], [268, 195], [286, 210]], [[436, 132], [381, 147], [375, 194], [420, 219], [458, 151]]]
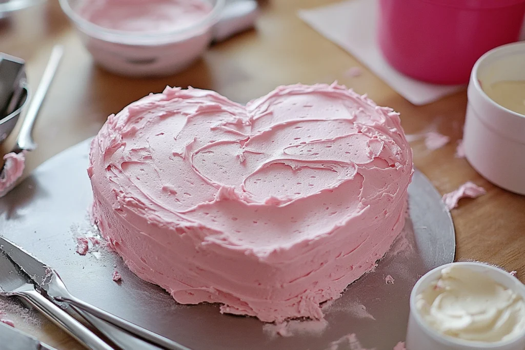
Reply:
[[379, 45], [407, 76], [463, 84], [481, 55], [518, 40], [524, 16], [525, 0], [380, 0]]

